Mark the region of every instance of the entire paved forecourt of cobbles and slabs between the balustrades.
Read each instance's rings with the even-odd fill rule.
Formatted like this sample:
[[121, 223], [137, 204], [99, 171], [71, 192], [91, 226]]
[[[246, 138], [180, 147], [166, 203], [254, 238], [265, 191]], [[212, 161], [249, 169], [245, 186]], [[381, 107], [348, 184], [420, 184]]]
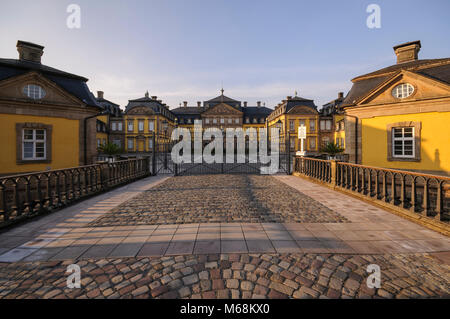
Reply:
[[[3, 231], [0, 298], [439, 298], [449, 251], [299, 177], [160, 175]], [[81, 288], [66, 287], [71, 264]]]

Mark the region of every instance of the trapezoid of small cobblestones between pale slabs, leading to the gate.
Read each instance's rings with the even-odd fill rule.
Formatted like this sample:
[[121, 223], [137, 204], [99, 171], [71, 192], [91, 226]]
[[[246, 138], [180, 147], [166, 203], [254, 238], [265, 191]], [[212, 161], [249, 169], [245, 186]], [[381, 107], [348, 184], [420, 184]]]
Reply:
[[270, 176], [171, 178], [101, 216], [90, 226], [217, 222], [348, 222], [342, 215]]

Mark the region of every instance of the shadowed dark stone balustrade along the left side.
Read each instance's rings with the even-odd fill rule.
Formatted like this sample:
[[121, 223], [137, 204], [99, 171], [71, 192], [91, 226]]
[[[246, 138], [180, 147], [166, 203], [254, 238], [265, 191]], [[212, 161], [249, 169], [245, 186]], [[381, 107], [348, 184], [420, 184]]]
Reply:
[[149, 158], [0, 178], [0, 228], [151, 175]]

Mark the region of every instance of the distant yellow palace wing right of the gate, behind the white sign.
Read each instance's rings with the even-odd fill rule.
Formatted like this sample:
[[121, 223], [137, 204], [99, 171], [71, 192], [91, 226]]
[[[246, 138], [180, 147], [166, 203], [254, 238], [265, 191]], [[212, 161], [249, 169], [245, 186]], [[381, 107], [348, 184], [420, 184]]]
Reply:
[[[269, 128], [281, 124], [280, 134], [290, 136], [291, 151], [301, 150], [301, 140], [298, 138], [299, 126], [306, 127], [306, 141], [304, 151], [306, 154], [318, 154], [319, 152], [319, 112], [313, 100], [298, 96], [288, 96], [282, 100], [275, 110], [267, 117]], [[281, 123], [280, 123], [281, 122]]]

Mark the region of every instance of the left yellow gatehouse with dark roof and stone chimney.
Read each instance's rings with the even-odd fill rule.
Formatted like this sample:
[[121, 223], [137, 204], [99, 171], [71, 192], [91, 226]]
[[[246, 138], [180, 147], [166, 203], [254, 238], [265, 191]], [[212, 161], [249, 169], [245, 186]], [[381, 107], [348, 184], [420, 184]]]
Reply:
[[101, 109], [87, 79], [43, 65], [43, 49], [18, 41], [19, 59], [0, 59], [1, 175], [79, 166], [96, 154]]

